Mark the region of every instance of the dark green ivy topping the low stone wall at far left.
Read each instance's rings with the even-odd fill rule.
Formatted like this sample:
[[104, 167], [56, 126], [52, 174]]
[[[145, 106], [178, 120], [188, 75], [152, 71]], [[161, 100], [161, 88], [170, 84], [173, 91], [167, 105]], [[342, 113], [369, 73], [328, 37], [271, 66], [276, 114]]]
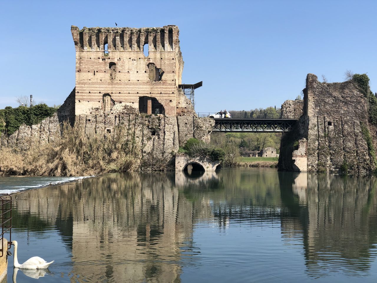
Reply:
[[0, 109], [0, 132], [11, 135], [22, 124], [28, 126], [40, 123], [43, 119], [51, 117], [57, 108], [49, 107], [46, 104], [37, 104], [31, 107], [18, 106], [12, 108], [11, 106]]

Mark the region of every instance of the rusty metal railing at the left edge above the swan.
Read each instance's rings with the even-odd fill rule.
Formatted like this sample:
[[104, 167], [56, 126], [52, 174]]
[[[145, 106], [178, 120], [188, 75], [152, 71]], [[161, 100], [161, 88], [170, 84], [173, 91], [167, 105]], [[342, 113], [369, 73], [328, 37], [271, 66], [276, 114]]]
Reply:
[[12, 243], [12, 197], [9, 194], [0, 194], [1, 216], [1, 244], [0, 257], [4, 255], [4, 234], [9, 232], [8, 247]]

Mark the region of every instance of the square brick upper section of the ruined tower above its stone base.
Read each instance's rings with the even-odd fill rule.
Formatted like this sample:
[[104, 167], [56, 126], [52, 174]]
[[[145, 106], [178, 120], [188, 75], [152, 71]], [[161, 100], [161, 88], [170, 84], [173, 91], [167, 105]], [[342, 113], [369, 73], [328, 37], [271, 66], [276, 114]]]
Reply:
[[72, 26], [71, 32], [76, 49], [76, 116], [124, 106], [140, 113], [176, 115], [184, 63], [177, 26], [81, 30]]

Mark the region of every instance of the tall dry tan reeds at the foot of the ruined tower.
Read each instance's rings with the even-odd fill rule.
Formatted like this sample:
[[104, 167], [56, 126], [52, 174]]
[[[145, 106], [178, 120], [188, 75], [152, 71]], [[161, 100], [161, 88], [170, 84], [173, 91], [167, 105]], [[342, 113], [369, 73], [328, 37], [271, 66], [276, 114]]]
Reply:
[[61, 140], [26, 151], [0, 149], [0, 175], [85, 176], [134, 171], [140, 148], [135, 134], [118, 127], [105, 139], [86, 137], [77, 127], [63, 125]]

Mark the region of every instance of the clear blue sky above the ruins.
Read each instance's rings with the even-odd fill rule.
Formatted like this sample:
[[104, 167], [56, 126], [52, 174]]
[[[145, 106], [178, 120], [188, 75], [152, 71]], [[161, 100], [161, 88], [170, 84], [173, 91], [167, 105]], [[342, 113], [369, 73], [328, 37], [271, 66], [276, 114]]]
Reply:
[[17, 95], [61, 104], [75, 86], [70, 26], [177, 25], [196, 111], [294, 99], [308, 73], [367, 73], [377, 91], [377, 1], [2, 1], [0, 108]]

